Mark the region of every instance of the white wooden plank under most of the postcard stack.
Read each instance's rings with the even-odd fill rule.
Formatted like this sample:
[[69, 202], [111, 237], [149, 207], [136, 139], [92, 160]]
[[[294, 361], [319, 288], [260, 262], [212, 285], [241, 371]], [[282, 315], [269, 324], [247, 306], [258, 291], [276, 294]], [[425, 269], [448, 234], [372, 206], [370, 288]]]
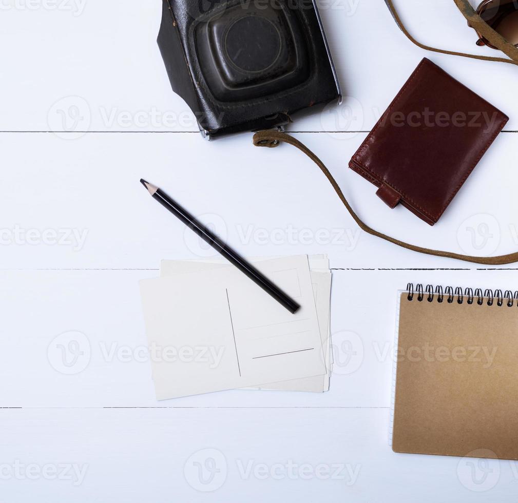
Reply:
[[[4, 271], [0, 407], [389, 407], [397, 291], [518, 289], [518, 271], [335, 271], [325, 394], [229, 391], [157, 402], [138, 280], [158, 271]], [[174, 340], [171, 346], [175, 346]]]

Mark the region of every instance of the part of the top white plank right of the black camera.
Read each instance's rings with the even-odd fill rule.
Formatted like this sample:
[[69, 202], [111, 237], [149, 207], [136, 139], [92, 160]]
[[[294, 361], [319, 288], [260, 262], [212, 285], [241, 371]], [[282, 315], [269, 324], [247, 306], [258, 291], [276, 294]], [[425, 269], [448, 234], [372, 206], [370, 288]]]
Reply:
[[[475, 7], [479, 4], [476, 0], [471, 3]], [[343, 105], [324, 110], [320, 120], [314, 117], [295, 123], [294, 131], [370, 131], [422, 58], [431, 59], [507, 113], [510, 121], [506, 130], [518, 128], [513, 97], [518, 77], [514, 65], [422, 50], [399, 30], [383, 4], [354, 0], [338, 4], [341, 8], [324, 10], [322, 14], [343, 86]], [[355, 6], [350, 8], [346, 4]], [[476, 33], [449, 0], [396, 0], [394, 4], [410, 33], [424, 44], [472, 54], [501, 55], [499, 51], [476, 46]]]

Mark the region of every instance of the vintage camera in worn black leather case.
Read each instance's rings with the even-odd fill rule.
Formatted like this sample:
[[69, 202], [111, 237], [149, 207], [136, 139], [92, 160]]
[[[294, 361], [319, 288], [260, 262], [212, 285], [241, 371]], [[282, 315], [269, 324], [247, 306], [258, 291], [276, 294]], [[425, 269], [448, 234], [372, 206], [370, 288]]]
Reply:
[[341, 99], [313, 0], [163, 0], [158, 42], [208, 139]]

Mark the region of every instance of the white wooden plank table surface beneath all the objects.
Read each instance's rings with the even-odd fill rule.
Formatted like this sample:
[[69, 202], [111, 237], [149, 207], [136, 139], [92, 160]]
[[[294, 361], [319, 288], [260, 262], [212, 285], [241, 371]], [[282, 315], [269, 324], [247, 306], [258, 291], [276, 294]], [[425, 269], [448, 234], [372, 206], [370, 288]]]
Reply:
[[[517, 249], [516, 68], [425, 53], [382, 0], [320, 4], [344, 103], [295, 122], [296, 137], [381, 231], [470, 254]], [[451, 0], [397, 4], [424, 42], [493, 54]], [[204, 142], [170, 90], [160, 17], [160, 0], [2, 3], [0, 501], [515, 501], [518, 464], [395, 454], [388, 429], [396, 291], [409, 281], [516, 290], [518, 271], [359, 232], [290, 147], [254, 149], [247, 134]], [[387, 209], [347, 168], [423, 56], [511, 118], [433, 228]], [[138, 280], [162, 258], [210, 251], [141, 177], [244, 254], [329, 255], [329, 393], [156, 402]]]

